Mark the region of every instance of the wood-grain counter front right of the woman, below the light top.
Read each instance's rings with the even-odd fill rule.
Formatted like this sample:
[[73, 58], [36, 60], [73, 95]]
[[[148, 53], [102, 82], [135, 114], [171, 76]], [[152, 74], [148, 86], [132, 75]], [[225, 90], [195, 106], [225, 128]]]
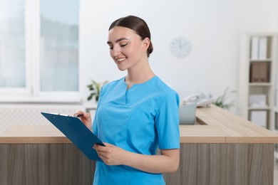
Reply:
[[166, 184], [272, 185], [274, 144], [182, 144], [180, 167]]

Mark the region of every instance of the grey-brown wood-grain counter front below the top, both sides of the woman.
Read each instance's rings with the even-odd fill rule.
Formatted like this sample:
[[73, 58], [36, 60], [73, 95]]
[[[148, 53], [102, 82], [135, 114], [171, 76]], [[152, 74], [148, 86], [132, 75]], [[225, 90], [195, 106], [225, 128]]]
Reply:
[[[181, 144], [174, 185], [270, 185], [274, 144]], [[73, 144], [0, 144], [0, 184], [92, 184], [96, 164]]]

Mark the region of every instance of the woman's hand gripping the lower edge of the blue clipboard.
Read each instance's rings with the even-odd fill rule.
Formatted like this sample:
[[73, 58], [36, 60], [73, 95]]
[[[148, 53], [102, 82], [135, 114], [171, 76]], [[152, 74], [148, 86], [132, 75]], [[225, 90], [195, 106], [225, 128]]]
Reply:
[[106, 142], [103, 142], [103, 144], [105, 144], [106, 147], [98, 144], [93, 145], [93, 148], [96, 149], [98, 156], [103, 159], [103, 162], [107, 165], [123, 164], [125, 159], [124, 156], [127, 151], [113, 144], [108, 144]]

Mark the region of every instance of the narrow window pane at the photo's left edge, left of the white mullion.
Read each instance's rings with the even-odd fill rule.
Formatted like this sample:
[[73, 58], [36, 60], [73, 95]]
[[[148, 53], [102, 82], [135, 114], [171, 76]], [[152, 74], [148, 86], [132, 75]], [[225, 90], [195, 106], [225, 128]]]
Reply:
[[24, 0], [0, 0], [0, 88], [26, 87]]

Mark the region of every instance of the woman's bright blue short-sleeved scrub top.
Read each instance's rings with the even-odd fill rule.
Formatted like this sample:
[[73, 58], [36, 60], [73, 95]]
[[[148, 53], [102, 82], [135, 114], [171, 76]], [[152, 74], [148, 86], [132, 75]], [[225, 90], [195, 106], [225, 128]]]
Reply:
[[[159, 149], [180, 148], [179, 97], [158, 76], [131, 88], [125, 78], [103, 86], [93, 132], [103, 142], [129, 152], [155, 155]], [[165, 184], [162, 174], [130, 166], [96, 163], [93, 184]]]

